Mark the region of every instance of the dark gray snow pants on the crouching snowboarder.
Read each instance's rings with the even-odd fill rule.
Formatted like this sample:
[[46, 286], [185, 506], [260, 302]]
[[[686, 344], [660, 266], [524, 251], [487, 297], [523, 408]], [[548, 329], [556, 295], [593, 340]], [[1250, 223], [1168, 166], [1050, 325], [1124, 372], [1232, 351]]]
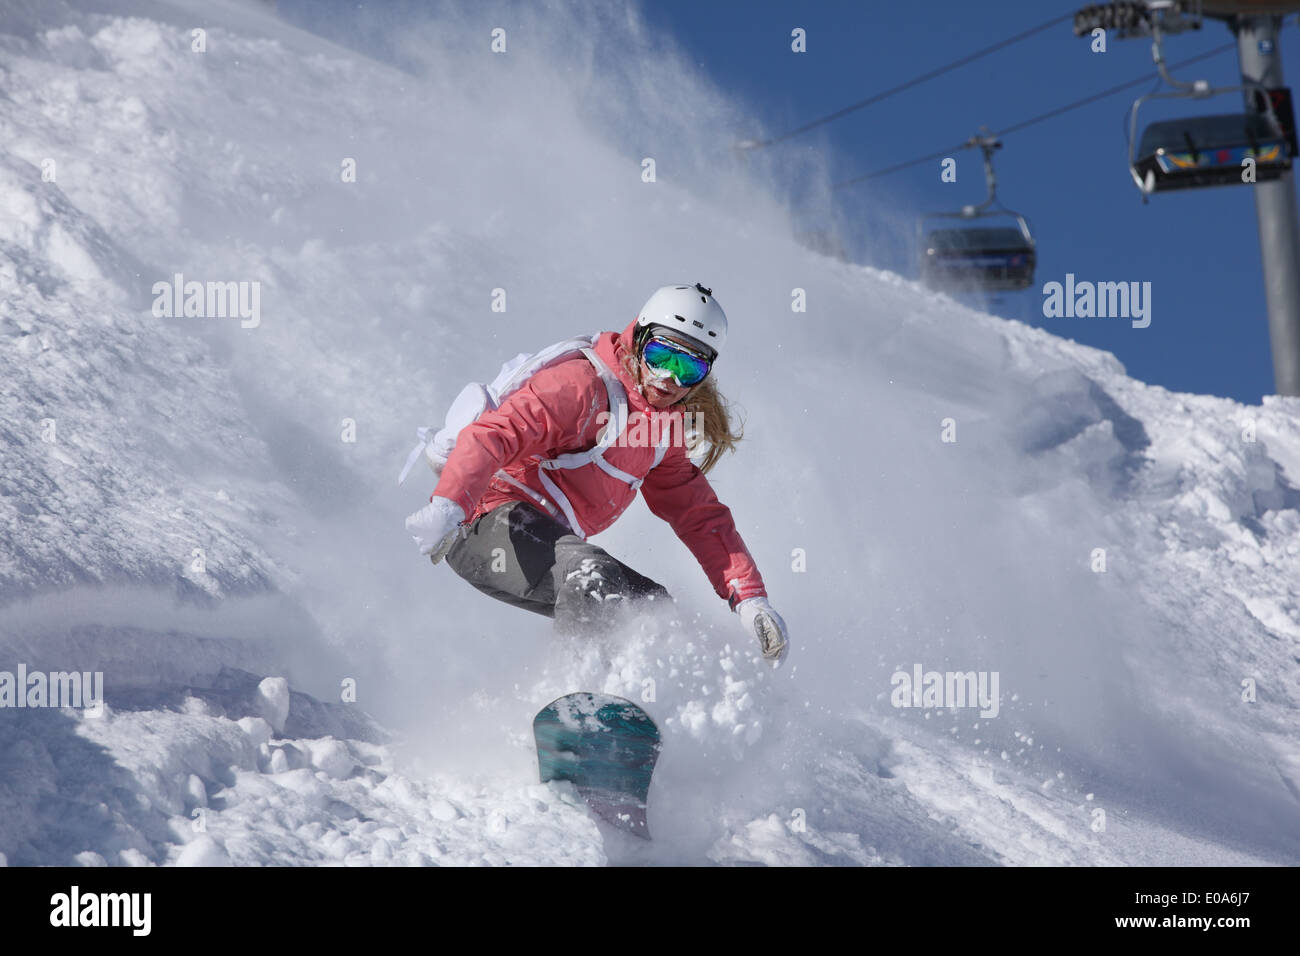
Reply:
[[482, 593], [554, 618], [560, 633], [599, 636], [628, 605], [672, 600], [662, 584], [521, 501], [468, 525], [447, 564]]

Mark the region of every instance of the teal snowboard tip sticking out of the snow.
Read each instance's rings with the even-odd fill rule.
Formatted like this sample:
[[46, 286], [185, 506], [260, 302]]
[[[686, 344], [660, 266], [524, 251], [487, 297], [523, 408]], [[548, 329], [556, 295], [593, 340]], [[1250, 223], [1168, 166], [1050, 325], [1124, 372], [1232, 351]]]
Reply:
[[646, 795], [659, 758], [659, 728], [623, 697], [569, 693], [533, 718], [542, 783], [569, 780], [597, 817], [650, 839]]

